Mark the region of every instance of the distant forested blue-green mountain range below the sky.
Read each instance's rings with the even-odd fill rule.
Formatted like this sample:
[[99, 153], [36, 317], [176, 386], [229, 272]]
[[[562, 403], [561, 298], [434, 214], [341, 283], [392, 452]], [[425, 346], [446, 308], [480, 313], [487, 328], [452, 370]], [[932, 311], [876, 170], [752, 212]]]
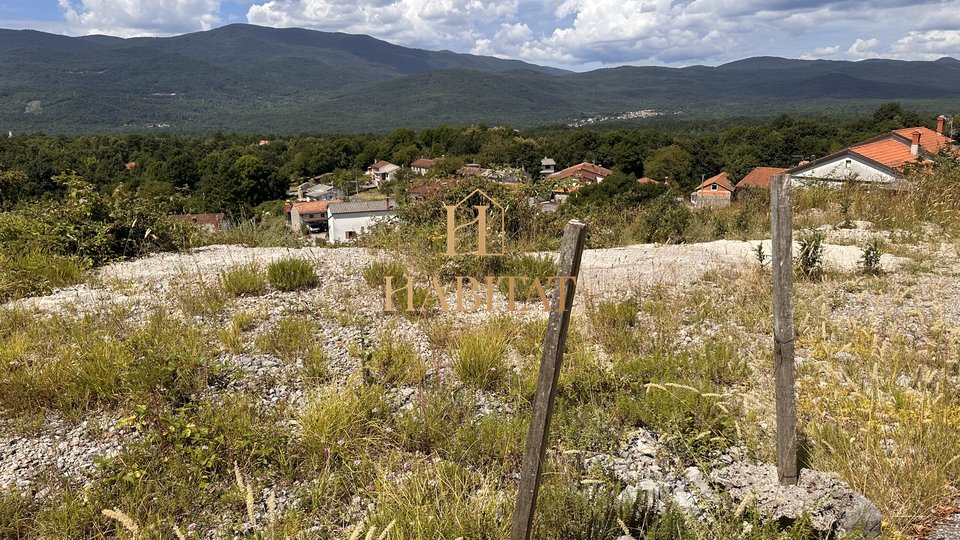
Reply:
[[656, 109], [684, 117], [960, 110], [960, 62], [749, 58], [570, 73], [369, 36], [231, 25], [171, 38], [0, 30], [0, 130], [382, 132], [530, 127]]

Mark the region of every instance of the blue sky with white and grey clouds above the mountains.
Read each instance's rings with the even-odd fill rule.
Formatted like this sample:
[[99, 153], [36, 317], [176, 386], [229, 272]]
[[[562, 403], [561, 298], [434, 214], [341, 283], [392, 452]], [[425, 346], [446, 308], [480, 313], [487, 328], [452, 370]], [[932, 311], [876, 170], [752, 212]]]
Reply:
[[576, 71], [765, 55], [960, 58], [960, 0], [0, 0], [0, 27], [66, 35], [170, 36], [231, 23]]

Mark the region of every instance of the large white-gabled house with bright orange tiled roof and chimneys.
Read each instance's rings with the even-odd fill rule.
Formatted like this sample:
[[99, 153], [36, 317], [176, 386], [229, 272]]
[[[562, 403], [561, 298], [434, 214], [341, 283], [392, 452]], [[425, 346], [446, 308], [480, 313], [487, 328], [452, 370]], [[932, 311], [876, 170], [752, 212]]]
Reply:
[[909, 166], [930, 164], [942, 148], [954, 148], [955, 141], [943, 133], [944, 121], [943, 115], [937, 119], [936, 131], [896, 129], [785, 172], [796, 186], [859, 182], [897, 188]]

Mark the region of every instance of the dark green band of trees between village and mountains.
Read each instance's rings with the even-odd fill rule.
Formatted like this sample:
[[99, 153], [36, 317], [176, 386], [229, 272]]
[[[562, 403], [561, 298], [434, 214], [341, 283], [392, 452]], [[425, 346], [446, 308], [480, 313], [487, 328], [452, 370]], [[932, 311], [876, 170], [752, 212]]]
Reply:
[[64, 197], [68, 187], [57, 178], [69, 172], [103, 193], [123, 186], [141, 198], [163, 201], [170, 212], [253, 215], [304, 179], [328, 175], [324, 181], [349, 188], [377, 160], [409, 166], [420, 157], [441, 158], [442, 175], [464, 163], [508, 166], [536, 176], [544, 157], [561, 167], [590, 161], [629, 178], [668, 177], [686, 190], [720, 171], [738, 179], [758, 165], [789, 167], [890, 129], [933, 122], [889, 103], [854, 119], [783, 115], [720, 125], [678, 121], [527, 131], [438, 126], [385, 136], [19, 135], [0, 139], [0, 209]]

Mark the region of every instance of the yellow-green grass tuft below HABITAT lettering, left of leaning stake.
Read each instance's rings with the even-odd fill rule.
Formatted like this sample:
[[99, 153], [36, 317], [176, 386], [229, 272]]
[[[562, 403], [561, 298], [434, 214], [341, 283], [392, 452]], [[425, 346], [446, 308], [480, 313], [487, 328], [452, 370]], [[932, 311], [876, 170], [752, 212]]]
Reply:
[[493, 390], [503, 382], [508, 343], [506, 337], [497, 330], [488, 325], [479, 331], [468, 332], [457, 340], [453, 371], [465, 384]]

